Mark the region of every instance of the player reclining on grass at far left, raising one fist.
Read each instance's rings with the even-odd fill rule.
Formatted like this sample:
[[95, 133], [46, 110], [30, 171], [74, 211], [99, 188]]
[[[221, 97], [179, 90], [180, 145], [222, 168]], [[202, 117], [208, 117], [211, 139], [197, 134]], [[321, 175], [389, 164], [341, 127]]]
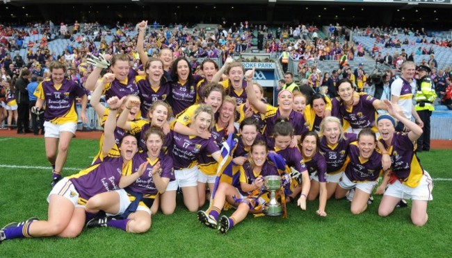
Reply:
[[[111, 112], [108, 114], [104, 126], [103, 156], [115, 144], [114, 130], [116, 114], [120, 106], [118, 97], [108, 99]], [[95, 214], [85, 212], [85, 205], [89, 198], [98, 193], [119, 189], [118, 184], [131, 165], [130, 162], [138, 152], [136, 137], [124, 135], [119, 144], [120, 157], [108, 162], [98, 162], [83, 169], [79, 173], [60, 180], [49, 193], [49, 218], [39, 221], [29, 218], [21, 223], [10, 223], [0, 230], [0, 242], [6, 239], [24, 237], [60, 236], [72, 238], [80, 234], [85, 221]], [[108, 180], [106, 180], [108, 178]]]

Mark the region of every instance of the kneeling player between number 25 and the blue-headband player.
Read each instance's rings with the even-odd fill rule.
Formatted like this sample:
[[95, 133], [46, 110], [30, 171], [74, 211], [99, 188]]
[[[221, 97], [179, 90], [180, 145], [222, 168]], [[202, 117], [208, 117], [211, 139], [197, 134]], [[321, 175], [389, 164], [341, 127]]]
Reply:
[[376, 151], [377, 139], [370, 128], [361, 130], [357, 142], [348, 146], [350, 162], [336, 189], [336, 198], [344, 198], [350, 189], [355, 188], [355, 194], [350, 206], [353, 214], [361, 214], [367, 209], [373, 187], [378, 183], [382, 171], [382, 155]]

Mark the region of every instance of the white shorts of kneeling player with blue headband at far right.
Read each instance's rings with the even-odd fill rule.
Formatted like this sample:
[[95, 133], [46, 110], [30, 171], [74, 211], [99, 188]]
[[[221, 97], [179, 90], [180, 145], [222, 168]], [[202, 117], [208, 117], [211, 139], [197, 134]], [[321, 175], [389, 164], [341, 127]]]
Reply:
[[424, 170], [423, 173], [421, 182], [417, 187], [408, 187], [399, 180], [396, 180], [394, 184], [388, 184], [389, 186], [385, 191], [385, 196], [411, 200], [433, 200], [433, 180], [427, 171]]

